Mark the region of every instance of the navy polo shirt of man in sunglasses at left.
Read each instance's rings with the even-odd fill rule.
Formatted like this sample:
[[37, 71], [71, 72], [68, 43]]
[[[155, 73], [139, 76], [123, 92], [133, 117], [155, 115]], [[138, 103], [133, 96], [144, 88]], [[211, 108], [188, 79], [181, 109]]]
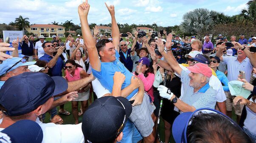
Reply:
[[[48, 54], [44, 54], [42, 57], [40, 57], [40, 60], [50, 62], [53, 57], [51, 57]], [[48, 75], [50, 76], [62, 76], [62, 68], [64, 67], [64, 62], [62, 59], [59, 57], [56, 64], [54, 65], [53, 68], [49, 68]]]

